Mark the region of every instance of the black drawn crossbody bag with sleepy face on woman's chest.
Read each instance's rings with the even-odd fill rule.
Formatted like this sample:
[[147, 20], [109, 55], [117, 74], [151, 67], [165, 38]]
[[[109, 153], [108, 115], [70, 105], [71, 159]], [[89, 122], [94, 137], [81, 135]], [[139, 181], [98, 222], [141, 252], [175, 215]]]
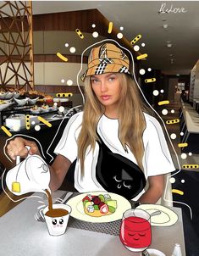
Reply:
[[115, 192], [127, 199], [135, 198], [146, 186], [146, 178], [140, 167], [130, 159], [111, 152], [102, 140], [97, 143], [97, 181], [108, 192]]

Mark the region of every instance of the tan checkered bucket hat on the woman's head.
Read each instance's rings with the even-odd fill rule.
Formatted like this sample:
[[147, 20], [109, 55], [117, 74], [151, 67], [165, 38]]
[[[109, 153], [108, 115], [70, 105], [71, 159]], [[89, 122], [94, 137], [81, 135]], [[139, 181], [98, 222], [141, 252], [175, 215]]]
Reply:
[[81, 80], [85, 81], [86, 76], [112, 72], [130, 74], [129, 68], [130, 60], [127, 55], [113, 43], [104, 43], [91, 49], [88, 69], [81, 75]]

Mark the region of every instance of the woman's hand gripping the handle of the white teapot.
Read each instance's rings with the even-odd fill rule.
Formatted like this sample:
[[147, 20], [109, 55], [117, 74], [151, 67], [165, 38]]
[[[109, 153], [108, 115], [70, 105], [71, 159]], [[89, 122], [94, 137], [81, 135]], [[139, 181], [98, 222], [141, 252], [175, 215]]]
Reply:
[[[26, 147], [30, 147], [30, 150]], [[28, 153], [39, 154], [39, 148], [36, 146], [36, 142], [25, 140], [22, 137], [16, 137], [14, 140], [8, 142], [7, 153], [8, 156], [15, 160], [17, 156], [26, 158]]]

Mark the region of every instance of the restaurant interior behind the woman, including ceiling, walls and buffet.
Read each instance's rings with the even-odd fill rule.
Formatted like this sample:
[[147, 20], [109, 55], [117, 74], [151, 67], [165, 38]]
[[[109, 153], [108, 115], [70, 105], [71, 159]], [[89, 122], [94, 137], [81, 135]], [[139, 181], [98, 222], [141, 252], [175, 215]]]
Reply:
[[[198, 10], [197, 1], [1, 1], [0, 175], [16, 164], [4, 147], [15, 136], [34, 137], [52, 161], [69, 118], [83, 109], [87, 48], [118, 42], [134, 58], [176, 168], [161, 203], [182, 209], [183, 255], [199, 255]], [[73, 190], [71, 173], [65, 187]], [[16, 204], [1, 191], [0, 216]]]

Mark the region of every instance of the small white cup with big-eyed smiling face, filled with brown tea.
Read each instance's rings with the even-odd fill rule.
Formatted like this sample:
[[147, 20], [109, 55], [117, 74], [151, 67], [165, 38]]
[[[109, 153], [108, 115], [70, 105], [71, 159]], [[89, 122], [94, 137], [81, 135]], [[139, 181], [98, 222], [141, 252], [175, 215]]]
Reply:
[[47, 230], [51, 236], [63, 235], [66, 231], [71, 208], [67, 204], [53, 204], [53, 208], [46, 207], [40, 210], [41, 217], [46, 220]]

